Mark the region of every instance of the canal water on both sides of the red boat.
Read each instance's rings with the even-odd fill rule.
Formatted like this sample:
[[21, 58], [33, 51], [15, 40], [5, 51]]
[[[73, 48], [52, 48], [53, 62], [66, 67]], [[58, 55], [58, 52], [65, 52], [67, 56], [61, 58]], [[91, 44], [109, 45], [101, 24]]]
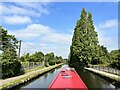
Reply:
[[[65, 67], [66, 65], [63, 65], [59, 68], [56, 68], [37, 79], [34, 79], [24, 85], [20, 85], [18, 87], [13, 88], [12, 90], [24, 90], [24, 89], [30, 89], [30, 88], [48, 88], [49, 85], [52, 83], [52, 81], [55, 79], [56, 75], [59, 73], [60, 69], [62, 67]], [[99, 89], [99, 90], [106, 90], [106, 89], [116, 89], [119, 90], [120, 88], [115, 87], [111, 83], [109, 83], [107, 80], [104, 80], [103, 78], [90, 73], [89, 71], [80, 69], [77, 70], [80, 77], [83, 79], [86, 86], [91, 89]]]

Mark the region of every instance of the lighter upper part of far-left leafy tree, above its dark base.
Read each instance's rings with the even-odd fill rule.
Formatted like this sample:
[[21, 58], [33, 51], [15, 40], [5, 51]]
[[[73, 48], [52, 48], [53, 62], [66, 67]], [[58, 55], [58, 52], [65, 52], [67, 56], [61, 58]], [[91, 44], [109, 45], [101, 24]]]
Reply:
[[17, 39], [15, 38], [14, 35], [9, 35], [7, 33], [7, 30], [3, 29], [2, 26], [0, 27], [0, 32], [2, 41], [2, 46], [0, 50], [3, 51], [2, 58], [12, 60], [16, 59], [17, 58], [16, 49], [18, 48]]

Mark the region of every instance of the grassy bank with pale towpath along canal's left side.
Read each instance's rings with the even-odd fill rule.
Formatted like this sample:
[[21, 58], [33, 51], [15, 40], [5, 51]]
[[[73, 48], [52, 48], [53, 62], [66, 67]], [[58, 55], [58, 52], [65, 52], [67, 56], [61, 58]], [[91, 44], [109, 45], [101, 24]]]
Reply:
[[63, 63], [57, 64], [57, 65], [54, 65], [54, 66], [49, 66], [49, 67], [38, 67], [38, 68], [35, 68], [35, 69], [31, 70], [31, 71], [27, 71], [27, 73], [24, 74], [24, 75], [2, 80], [3, 83], [1, 82], [2, 86], [0, 86], [0, 88], [2, 90], [4, 90], [4, 89], [12, 88], [14, 86], [23, 84], [23, 83], [28, 82], [31, 79], [41, 75], [41, 74], [43, 74], [43, 73], [46, 73], [46, 72], [48, 72], [48, 71], [62, 65], [62, 64]]

